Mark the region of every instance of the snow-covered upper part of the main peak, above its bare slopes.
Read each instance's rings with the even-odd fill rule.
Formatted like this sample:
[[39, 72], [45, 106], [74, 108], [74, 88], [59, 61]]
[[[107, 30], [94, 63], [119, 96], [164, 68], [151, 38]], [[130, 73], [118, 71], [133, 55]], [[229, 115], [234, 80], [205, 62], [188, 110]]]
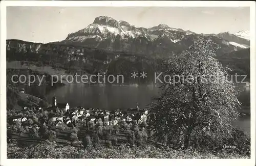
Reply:
[[114, 42], [116, 37], [119, 35], [120, 38], [125, 41], [138, 37], [143, 37], [148, 41], [153, 41], [157, 38], [166, 36], [170, 41], [176, 43], [182, 38], [180, 34], [176, 35], [176, 32], [186, 34], [185, 31], [181, 29], [174, 29], [166, 24], [159, 24], [158, 26], [146, 29], [145, 27], [131, 25], [129, 22], [123, 20], [115, 20], [111, 17], [99, 16], [96, 17], [94, 22], [86, 28], [69, 34], [66, 41], [84, 42], [89, 39], [95, 39], [97, 42], [100, 42], [109, 38]]

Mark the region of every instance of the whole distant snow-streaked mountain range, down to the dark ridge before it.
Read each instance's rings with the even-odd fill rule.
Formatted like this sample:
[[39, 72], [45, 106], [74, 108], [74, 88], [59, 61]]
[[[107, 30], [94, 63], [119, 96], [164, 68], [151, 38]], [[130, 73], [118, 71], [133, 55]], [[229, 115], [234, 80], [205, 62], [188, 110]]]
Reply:
[[[117, 21], [103, 16], [95, 18], [94, 22], [86, 28], [69, 34], [61, 43], [163, 58], [171, 57], [173, 53], [180, 53], [187, 49], [200, 36], [212, 38], [219, 44], [218, 53], [220, 54], [247, 48], [249, 45], [246, 39], [237, 36], [196, 34], [175, 29], [166, 24], [146, 29], [136, 27], [126, 21]], [[229, 43], [230, 41], [234, 43]]]

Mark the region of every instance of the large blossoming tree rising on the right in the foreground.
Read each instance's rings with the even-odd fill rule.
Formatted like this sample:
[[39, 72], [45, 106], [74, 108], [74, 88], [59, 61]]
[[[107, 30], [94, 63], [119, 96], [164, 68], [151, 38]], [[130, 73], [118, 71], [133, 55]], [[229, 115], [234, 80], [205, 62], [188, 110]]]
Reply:
[[231, 136], [240, 103], [227, 72], [214, 58], [216, 49], [211, 40], [199, 38], [164, 63], [163, 93], [150, 115], [159, 140], [167, 136], [170, 144], [188, 148], [219, 146]]

